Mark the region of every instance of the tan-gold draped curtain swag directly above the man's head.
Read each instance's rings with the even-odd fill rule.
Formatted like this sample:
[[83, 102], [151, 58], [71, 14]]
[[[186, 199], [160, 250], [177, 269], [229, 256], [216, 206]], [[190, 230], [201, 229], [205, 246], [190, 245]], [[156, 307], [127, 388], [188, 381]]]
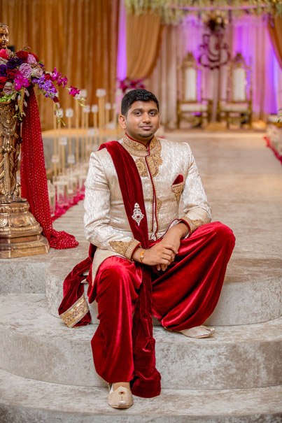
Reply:
[[155, 66], [164, 35], [160, 16], [127, 14], [126, 34], [127, 78], [147, 78]]

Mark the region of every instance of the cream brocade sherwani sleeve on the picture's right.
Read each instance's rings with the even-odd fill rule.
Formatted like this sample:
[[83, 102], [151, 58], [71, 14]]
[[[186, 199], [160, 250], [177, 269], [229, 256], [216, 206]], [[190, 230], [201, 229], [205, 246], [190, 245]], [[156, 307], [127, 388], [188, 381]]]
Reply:
[[206, 199], [202, 180], [199, 177], [194, 156], [188, 147], [189, 160], [188, 160], [188, 175], [185, 179], [183, 188], [183, 209], [184, 215], [181, 220], [188, 224], [190, 234], [195, 231], [202, 224], [211, 222], [211, 208]]

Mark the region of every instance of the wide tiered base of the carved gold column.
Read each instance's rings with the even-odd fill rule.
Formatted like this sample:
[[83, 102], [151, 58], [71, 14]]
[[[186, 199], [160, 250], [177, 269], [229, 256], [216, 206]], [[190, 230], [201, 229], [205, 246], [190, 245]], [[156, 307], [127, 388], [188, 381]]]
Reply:
[[40, 224], [29, 213], [29, 203], [17, 199], [0, 203], [0, 259], [45, 254], [50, 249]]

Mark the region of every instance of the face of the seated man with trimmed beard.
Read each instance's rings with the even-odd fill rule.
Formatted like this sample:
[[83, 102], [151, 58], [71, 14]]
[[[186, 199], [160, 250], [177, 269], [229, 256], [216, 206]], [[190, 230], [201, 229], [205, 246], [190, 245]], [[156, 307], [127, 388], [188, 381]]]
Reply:
[[134, 101], [127, 115], [120, 115], [120, 125], [136, 141], [148, 141], [160, 127], [160, 114], [155, 101]]

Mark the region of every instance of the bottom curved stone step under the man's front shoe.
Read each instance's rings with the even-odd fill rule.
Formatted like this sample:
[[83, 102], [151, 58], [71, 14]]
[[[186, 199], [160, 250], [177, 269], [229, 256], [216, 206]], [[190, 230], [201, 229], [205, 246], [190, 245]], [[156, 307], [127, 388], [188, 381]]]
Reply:
[[0, 370], [1, 423], [279, 423], [282, 387], [162, 389], [160, 396], [115, 410], [107, 389], [57, 385]]

